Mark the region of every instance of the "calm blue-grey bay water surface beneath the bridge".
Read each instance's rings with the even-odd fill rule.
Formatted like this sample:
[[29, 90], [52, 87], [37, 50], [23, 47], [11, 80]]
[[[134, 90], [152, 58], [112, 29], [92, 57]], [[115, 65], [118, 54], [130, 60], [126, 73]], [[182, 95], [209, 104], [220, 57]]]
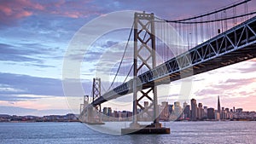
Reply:
[[0, 123], [0, 143], [256, 143], [256, 122], [166, 122], [170, 135], [105, 134], [119, 134], [129, 123], [92, 128], [81, 123]]

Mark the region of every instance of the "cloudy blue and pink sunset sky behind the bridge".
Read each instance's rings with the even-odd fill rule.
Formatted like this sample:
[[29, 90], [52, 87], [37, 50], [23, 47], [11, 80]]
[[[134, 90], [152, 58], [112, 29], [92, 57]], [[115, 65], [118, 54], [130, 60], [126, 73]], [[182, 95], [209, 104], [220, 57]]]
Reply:
[[[154, 13], [166, 20], [177, 20], [230, 3], [234, 1], [1, 0], [0, 113], [42, 116], [79, 112], [83, 95], [91, 93], [92, 78], [101, 76], [105, 72], [103, 70], [109, 69], [108, 77], [102, 78], [103, 87], [107, 89], [112, 81], [130, 32], [134, 10]], [[249, 11], [255, 9], [255, 2], [248, 3]], [[125, 17], [125, 14], [128, 16]], [[109, 15], [113, 17], [104, 20]], [[115, 20], [115, 25], [112, 25]], [[119, 31], [116, 28], [119, 26], [124, 26], [121, 28], [125, 31]], [[79, 38], [91, 42], [85, 43], [90, 48], [82, 52], [76, 49], [75, 42], [81, 40]], [[131, 45], [128, 48], [131, 49]], [[79, 60], [79, 63], [67, 64], [67, 59]], [[113, 61], [108, 65], [102, 63], [108, 59]], [[129, 61], [132, 57], [125, 59]], [[159, 94], [160, 101], [189, 102], [195, 98], [205, 106], [216, 108], [220, 95], [224, 107], [255, 111], [255, 67], [256, 59], [247, 60], [161, 86], [159, 91], [167, 92]], [[62, 84], [65, 79], [79, 81], [79, 84], [68, 81], [71, 82], [68, 89], [73, 89], [68, 91]], [[183, 85], [189, 85], [185, 97], [181, 95]], [[109, 101], [103, 107], [131, 109], [131, 101], [128, 95]]]

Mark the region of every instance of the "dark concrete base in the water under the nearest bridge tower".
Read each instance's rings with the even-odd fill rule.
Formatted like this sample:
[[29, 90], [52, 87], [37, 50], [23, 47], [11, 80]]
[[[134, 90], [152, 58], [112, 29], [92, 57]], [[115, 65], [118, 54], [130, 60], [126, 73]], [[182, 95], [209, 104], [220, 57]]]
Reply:
[[165, 127], [152, 127], [151, 125], [140, 126], [139, 128], [125, 128], [121, 129], [122, 135], [129, 134], [170, 134], [170, 128]]

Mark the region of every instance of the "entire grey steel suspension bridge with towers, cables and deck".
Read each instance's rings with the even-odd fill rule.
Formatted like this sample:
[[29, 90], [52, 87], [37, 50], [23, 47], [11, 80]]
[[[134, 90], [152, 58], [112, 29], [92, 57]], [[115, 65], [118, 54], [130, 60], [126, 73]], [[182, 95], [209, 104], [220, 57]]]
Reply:
[[[154, 14], [135, 13], [127, 42], [133, 34], [133, 61], [124, 83], [113, 86], [125, 52], [107, 92], [102, 94], [101, 78], [93, 79], [92, 101], [89, 102], [89, 96], [84, 97], [81, 121], [103, 124], [101, 104], [132, 94], [132, 122], [130, 128], [122, 129], [122, 133], [170, 133], [170, 129], [159, 122], [156, 87], [255, 58], [256, 12], [247, 10], [248, 2], [232, 3], [182, 20], [164, 20]], [[151, 102], [148, 107], [141, 104], [145, 99]], [[152, 108], [153, 113], [149, 113], [148, 108]], [[147, 112], [153, 123], [139, 124], [138, 109]]]

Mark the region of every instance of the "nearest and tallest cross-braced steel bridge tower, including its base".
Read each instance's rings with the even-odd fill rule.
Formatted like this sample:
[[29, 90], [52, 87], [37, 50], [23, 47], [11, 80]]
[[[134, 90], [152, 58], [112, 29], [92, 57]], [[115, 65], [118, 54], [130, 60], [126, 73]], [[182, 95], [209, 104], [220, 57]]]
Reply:
[[[145, 51], [148, 55], [145, 54]], [[156, 66], [155, 60], [155, 37], [154, 37], [154, 14], [135, 13], [134, 14], [134, 66], [133, 66], [133, 117], [130, 128], [122, 129], [122, 133], [133, 134], [168, 134], [169, 128], [162, 128], [159, 123], [159, 110], [157, 105], [157, 89], [154, 84], [150, 84], [149, 89], [138, 86], [139, 78], [142, 72], [152, 70]], [[150, 95], [150, 93], [152, 95]], [[151, 125], [140, 125], [138, 121], [138, 107], [144, 112], [148, 112], [139, 101], [151, 101], [149, 107], [153, 107]], [[150, 114], [148, 113], [150, 116]]]

